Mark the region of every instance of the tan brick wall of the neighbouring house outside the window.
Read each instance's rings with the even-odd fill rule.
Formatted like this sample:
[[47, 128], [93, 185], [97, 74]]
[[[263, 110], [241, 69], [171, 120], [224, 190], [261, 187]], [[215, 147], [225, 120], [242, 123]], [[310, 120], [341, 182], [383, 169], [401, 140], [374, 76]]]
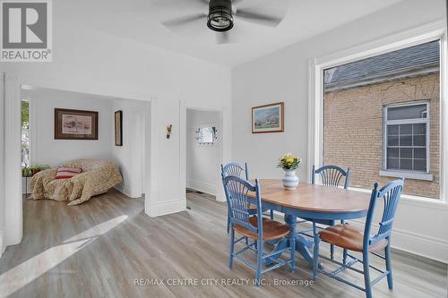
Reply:
[[383, 107], [417, 100], [430, 102], [430, 174], [434, 181], [406, 179], [403, 193], [440, 197], [439, 75], [385, 81], [325, 93], [323, 163], [349, 167], [350, 186], [371, 189], [397, 178], [383, 169]]

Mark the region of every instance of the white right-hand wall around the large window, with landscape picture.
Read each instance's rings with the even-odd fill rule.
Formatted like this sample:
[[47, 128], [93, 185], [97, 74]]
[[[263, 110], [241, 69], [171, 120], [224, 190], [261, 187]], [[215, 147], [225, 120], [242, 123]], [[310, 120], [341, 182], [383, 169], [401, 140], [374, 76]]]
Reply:
[[[444, 4], [442, 0], [404, 1], [234, 68], [233, 159], [247, 162], [254, 177], [280, 178], [277, 158], [294, 152], [304, 158], [298, 173], [305, 180], [309, 60], [444, 19]], [[252, 134], [251, 107], [279, 101], [285, 102], [285, 132]], [[401, 200], [392, 245], [448, 262], [447, 218], [446, 208]]]

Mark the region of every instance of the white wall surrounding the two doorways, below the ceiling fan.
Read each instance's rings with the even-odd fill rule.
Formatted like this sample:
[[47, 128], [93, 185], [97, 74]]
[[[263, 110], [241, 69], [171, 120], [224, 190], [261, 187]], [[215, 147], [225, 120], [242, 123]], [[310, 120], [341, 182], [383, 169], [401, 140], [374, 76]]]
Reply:
[[[180, 171], [185, 162], [180, 158], [180, 125], [185, 123], [181, 123], [180, 105], [183, 102], [186, 106], [223, 110], [224, 122], [230, 123], [230, 71], [126, 38], [71, 26], [65, 15], [70, 12], [58, 10], [57, 1], [53, 5], [53, 23], [57, 24], [53, 28], [53, 62], [0, 64], [0, 72], [8, 76], [6, 86], [11, 89], [6, 90], [11, 103], [7, 110], [13, 111], [1, 117], [2, 121], [11, 127], [20, 125], [20, 103], [13, 102], [13, 98], [20, 100], [16, 94], [20, 84], [151, 100], [151, 183], [147, 183], [151, 189], [145, 197], [145, 212], [156, 217], [185, 210], [185, 174]], [[173, 124], [173, 134], [168, 140], [165, 127], [169, 123]], [[7, 244], [19, 243], [22, 238], [19, 135], [18, 128], [11, 130], [5, 146], [10, 162], [4, 170], [12, 181], [4, 190]], [[228, 140], [222, 141], [226, 144], [224, 156], [229, 159], [230, 135], [223, 138]], [[173, 187], [182, 184], [184, 187]]]

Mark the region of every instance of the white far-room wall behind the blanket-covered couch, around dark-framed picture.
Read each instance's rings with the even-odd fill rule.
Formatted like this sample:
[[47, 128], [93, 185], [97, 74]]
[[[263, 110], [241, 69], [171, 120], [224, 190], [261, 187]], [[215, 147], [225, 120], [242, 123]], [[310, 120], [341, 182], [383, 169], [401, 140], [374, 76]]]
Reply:
[[[75, 158], [110, 158], [110, 100], [56, 89], [23, 91], [30, 93], [31, 164], [58, 166]], [[98, 140], [55, 140], [55, 108], [99, 112]]]

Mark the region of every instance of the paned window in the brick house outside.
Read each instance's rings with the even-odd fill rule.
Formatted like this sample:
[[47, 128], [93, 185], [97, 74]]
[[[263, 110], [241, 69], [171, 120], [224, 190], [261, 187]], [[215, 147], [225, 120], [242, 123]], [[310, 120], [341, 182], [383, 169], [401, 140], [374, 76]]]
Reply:
[[429, 172], [429, 104], [384, 107], [384, 170]]

